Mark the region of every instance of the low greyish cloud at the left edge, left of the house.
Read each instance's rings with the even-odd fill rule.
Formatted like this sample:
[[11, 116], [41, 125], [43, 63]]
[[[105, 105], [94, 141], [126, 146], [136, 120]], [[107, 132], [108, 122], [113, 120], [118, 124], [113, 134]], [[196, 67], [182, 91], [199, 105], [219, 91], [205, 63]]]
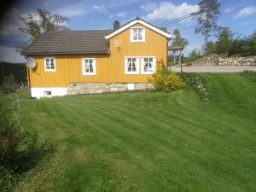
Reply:
[[23, 56], [20, 56], [20, 53], [15, 48], [0, 45], [0, 61], [16, 63], [25, 62], [25, 59]]

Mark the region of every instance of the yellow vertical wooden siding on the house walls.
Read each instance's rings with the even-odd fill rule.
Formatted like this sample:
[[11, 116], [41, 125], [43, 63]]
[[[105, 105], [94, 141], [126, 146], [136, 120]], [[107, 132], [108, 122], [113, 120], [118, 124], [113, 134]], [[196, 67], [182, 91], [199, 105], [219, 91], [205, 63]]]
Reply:
[[[116, 40], [121, 43], [120, 49], [115, 47]], [[148, 82], [151, 75], [125, 74], [125, 56], [155, 56], [156, 61], [166, 63], [167, 38], [146, 28], [145, 40], [144, 43], [131, 43], [130, 29], [127, 29], [109, 40], [110, 55], [55, 55], [55, 72], [46, 72], [44, 56], [35, 55], [38, 67], [29, 69], [30, 86], [67, 87], [73, 82]], [[82, 75], [82, 58], [96, 58], [95, 76]]]

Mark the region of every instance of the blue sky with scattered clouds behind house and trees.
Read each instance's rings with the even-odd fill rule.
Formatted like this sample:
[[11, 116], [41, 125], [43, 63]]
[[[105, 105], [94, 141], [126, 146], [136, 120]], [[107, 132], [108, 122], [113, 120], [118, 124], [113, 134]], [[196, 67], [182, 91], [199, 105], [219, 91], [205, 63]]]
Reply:
[[[111, 29], [113, 21], [124, 24], [137, 16], [160, 26], [169, 20], [189, 15], [199, 9], [200, 0], [23, 0], [5, 9], [0, 20], [0, 61], [24, 62], [23, 56], [16, 51], [19, 44], [27, 43], [29, 36], [20, 32], [24, 26], [20, 15], [36, 15], [36, 9], [67, 16], [70, 30]], [[248, 36], [256, 31], [256, 0], [219, 0], [221, 3], [218, 25], [228, 26], [236, 36]], [[195, 34], [196, 20], [188, 18], [166, 25], [168, 32], [177, 28], [183, 38], [189, 40], [185, 49], [188, 55], [192, 49], [203, 44], [204, 37]], [[212, 40], [216, 37], [213, 35]]]

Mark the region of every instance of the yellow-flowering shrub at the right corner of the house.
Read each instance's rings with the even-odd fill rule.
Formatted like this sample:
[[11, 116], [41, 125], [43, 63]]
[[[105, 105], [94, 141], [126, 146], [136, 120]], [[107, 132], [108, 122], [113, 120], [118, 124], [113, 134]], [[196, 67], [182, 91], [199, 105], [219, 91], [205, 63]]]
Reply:
[[166, 92], [180, 89], [185, 85], [177, 73], [169, 72], [164, 64], [158, 65], [151, 83], [154, 85], [155, 90], [164, 90]]

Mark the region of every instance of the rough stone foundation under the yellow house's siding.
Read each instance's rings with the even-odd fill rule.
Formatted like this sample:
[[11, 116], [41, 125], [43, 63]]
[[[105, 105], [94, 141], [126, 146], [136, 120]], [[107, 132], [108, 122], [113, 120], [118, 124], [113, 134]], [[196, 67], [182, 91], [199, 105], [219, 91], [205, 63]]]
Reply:
[[150, 83], [72, 83], [67, 87], [67, 95], [108, 93], [125, 90], [152, 90]]

